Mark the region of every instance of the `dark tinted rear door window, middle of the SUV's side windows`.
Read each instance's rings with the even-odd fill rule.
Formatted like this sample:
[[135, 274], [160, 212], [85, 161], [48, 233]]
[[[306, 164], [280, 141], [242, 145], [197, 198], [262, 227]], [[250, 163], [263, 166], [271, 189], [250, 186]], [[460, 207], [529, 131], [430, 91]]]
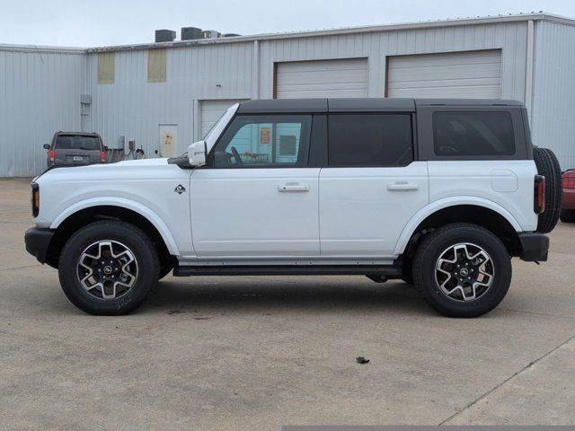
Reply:
[[413, 161], [409, 114], [331, 114], [329, 164], [404, 166]]

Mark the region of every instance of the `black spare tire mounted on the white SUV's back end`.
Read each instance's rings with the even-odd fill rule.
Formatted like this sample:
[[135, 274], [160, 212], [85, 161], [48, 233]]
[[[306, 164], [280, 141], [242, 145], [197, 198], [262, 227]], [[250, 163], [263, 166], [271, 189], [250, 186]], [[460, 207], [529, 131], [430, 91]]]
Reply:
[[533, 147], [537, 172], [545, 177], [545, 210], [537, 220], [537, 232], [550, 233], [559, 221], [562, 205], [561, 166], [549, 148]]

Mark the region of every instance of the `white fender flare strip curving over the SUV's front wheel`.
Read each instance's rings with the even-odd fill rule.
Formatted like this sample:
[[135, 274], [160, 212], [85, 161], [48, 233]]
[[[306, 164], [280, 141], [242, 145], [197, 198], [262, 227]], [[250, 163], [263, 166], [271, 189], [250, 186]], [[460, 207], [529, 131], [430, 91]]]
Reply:
[[52, 224], [50, 224], [50, 229], [57, 229], [57, 227], [66, 220], [69, 216], [74, 215], [78, 211], [81, 211], [85, 208], [90, 207], [122, 207], [134, 211], [135, 213], [139, 214], [146, 218], [151, 224], [154, 225], [155, 229], [160, 233], [162, 239], [164, 240], [165, 246], [170, 252], [170, 254], [178, 255], [178, 246], [173, 239], [173, 234], [168, 228], [168, 226], [164, 223], [164, 220], [154, 211], [151, 211], [150, 208], [146, 207], [138, 203], [135, 200], [128, 199], [128, 198], [117, 198], [117, 197], [103, 197], [103, 198], [89, 198], [84, 199], [79, 202], [76, 202], [74, 205], [70, 207], [66, 207], [64, 211], [59, 213], [57, 217], [54, 219]]

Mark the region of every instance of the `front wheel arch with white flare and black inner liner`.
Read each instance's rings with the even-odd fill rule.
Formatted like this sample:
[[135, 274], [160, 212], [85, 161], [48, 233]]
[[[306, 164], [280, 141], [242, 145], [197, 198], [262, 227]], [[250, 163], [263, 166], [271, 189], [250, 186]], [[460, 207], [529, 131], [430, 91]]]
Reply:
[[121, 220], [144, 231], [154, 242], [163, 265], [170, 265], [173, 256], [178, 255], [176, 243], [167, 225], [148, 208], [127, 199], [122, 199], [122, 202], [98, 199], [80, 202], [67, 208], [50, 224], [50, 229], [56, 233], [49, 245], [47, 263], [57, 267], [59, 253], [69, 236], [85, 224], [102, 219]]

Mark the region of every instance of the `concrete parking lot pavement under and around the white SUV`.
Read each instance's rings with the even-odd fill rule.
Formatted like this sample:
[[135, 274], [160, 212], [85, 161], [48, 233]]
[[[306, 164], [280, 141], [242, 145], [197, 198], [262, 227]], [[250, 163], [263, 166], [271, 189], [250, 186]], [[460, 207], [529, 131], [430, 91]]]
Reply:
[[29, 200], [0, 180], [2, 429], [575, 424], [575, 224], [474, 320], [366, 277], [166, 277], [94, 317], [24, 251]]

